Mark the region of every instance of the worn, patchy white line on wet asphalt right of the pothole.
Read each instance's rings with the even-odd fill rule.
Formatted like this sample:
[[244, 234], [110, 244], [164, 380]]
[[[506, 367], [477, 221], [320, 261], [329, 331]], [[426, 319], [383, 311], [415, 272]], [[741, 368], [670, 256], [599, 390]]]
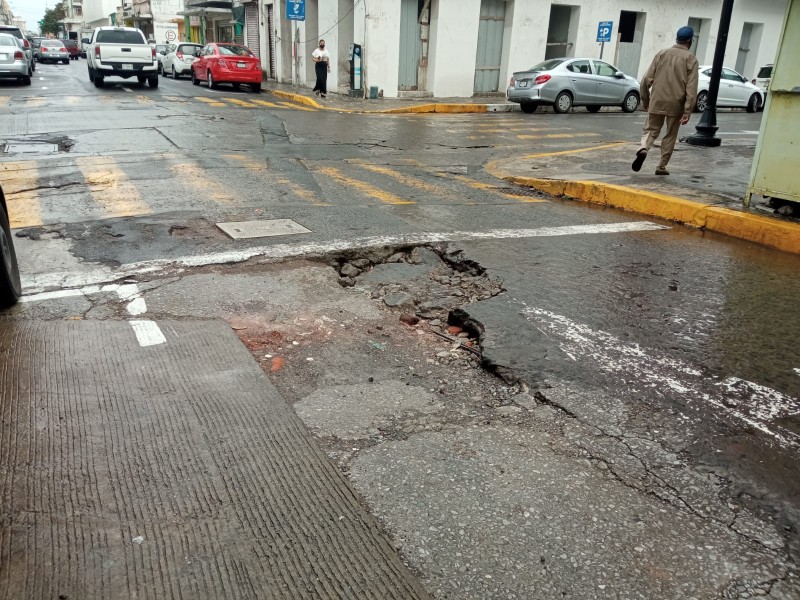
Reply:
[[718, 413], [769, 435], [780, 445], [800, 446], [800, 434], [780, 425], [781, 420], [800, 414], [797, 398], [737, 377], [724, 380], [709, 377], [693, 365], [658, 350], [625, 342], [563, 315], [519, 303], [524, 307], [525, 318], [559, 340], [565, 354], [581, 362], [594, 362], [599, 370], [625, 378], [632, 392], [677, 393], [696, 410], [713, 407]]

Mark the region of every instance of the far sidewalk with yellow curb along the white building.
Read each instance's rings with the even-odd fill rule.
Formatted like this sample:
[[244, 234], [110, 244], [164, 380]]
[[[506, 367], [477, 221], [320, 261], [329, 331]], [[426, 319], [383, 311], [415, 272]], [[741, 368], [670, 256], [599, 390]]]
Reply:
[[507, 102], [502, 94], [475, 98], [352, 98], [336, 92], [320, 98], [311, 88], [274, 81], [261, 84], [264, 92], [319, 110], [354, 113], [487, 113], [518, 111], [519, 105]]

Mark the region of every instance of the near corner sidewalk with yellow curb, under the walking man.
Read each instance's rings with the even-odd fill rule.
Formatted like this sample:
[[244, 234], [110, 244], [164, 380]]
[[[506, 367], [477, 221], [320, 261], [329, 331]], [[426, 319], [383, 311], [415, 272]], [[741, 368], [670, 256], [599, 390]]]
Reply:
[[670, 175], [655, 175], [658, 148], [641, 172], [631, 163], [635, 142], [528, 154], [493, 161], [492, 175], [553, 196], [621, 208], [800, 254], [800, 221], [783, 218], [754, 197], [743, 204], [754, 143], [726, 139], [720, 148], [679, 143]]

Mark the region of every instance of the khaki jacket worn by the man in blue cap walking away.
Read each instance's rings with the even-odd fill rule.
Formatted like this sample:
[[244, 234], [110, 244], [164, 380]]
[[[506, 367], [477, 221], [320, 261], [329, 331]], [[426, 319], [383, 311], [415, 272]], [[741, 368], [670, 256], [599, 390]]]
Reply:
[[662, 50], [642, 79], [642, 104], [657, 115], [688, 115], [697, 101], [698, 70], [697, 59], [685, 46]]

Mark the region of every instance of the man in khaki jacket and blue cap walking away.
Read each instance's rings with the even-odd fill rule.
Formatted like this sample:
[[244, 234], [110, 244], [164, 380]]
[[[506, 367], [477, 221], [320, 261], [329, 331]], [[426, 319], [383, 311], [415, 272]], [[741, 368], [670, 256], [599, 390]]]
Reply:
[[642, 80], [642, 106], [647, 111], [642, 146], [636, 153], [631, 168], [639, 171], [647, 152], [661, 134], [664, 122], [667, 132], [661, 140], [661, 162], [656, 175], [669, 175], [667, 164], [672, 158], [678, 130], [689, 122], [689, 115], [697, 101], [697, 76], [699, 65], [689, 52], [694, 39], [694, 29], [681, 27], [672, 48], [656, 54]]

